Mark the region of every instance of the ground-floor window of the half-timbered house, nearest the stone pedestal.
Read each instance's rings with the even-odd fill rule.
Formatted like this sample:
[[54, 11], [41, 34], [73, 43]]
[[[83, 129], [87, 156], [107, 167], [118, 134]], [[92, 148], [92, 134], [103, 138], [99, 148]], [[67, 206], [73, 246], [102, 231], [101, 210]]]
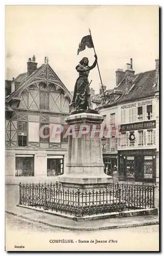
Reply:
[[56, 176], [63, 174], [63, 160], [63, 156], [48, 156], [47, 176]]

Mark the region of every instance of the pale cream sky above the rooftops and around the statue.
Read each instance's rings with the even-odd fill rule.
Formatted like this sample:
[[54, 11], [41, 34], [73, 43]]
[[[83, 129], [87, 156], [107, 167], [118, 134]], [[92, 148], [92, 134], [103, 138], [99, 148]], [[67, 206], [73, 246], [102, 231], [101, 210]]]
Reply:
[[[78, 77], [75, 67], [83, 57], [94, 61], [94, 50], [77, 55], [81, 38], [91, 29], [98, 65], [106, 89], [116, 85], [116, 70], [133, 59], [135, 73], [155, 69], [159, 57], [158, 6], [6, 6], [6, 79], [27, 70], [33, 54], [38, 67], [48, 56], [50, 67], [68, 90]], [[89, 81], [99, 92], [97, 67]]]

